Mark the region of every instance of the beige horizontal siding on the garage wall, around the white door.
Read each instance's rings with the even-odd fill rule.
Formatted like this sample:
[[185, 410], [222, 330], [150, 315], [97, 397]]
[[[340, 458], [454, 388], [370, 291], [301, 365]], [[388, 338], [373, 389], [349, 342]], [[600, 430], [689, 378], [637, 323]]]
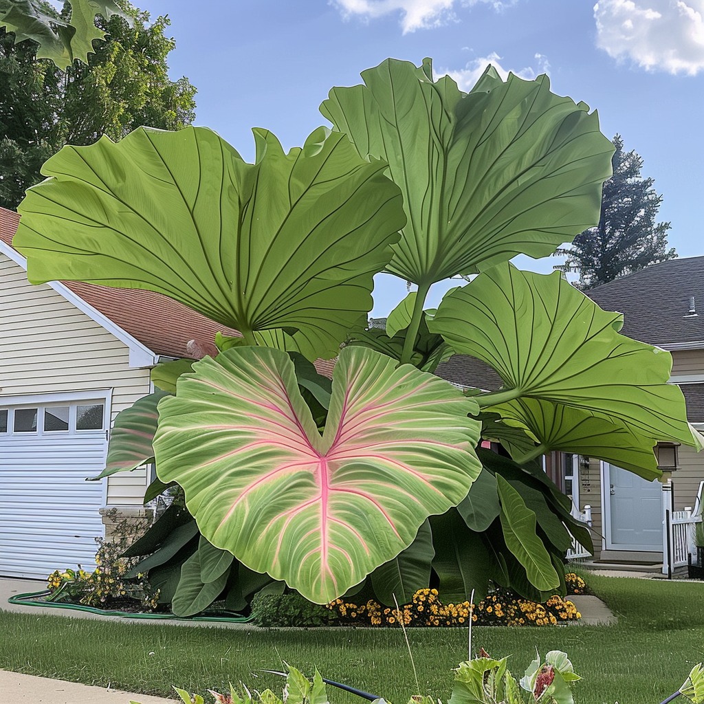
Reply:
[[[149, 394], [149, 370], [130, 368], [125, 344], [0, 254], [0, 399], [112, 389], [112, 420]], [[108, 505], [141, 505], [144, 470], [108, 478]]]

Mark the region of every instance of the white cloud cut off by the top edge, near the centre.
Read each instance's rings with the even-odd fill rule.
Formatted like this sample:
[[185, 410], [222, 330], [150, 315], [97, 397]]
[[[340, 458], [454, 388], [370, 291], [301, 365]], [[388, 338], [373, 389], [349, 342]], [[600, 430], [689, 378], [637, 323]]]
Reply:
[[517, 0], [329, 0], [344, 18], [359, 15], [373, 20], [390, 13], [401, 12], [403, 34], [427, 30], [455, 22], [455, 6], [472, 6], [478, 3], [491, 5], [495, 10], [515, 4]]

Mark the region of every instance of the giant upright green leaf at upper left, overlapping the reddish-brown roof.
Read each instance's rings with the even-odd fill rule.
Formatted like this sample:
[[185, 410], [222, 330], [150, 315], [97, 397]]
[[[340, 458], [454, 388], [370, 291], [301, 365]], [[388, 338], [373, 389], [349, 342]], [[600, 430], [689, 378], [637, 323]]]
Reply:
[[284, 153], [253, 132], [254, 164], [204, 127], [65, 146], [19, 208], [30, 281], [158, 291], [245, 337], [337, 354], [406, 220], [400, 191], [343, 134]]

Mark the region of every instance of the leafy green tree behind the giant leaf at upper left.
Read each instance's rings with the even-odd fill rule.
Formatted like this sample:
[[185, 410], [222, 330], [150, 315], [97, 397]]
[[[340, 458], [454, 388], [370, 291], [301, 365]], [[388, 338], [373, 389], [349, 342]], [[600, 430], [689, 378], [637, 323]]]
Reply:
[[179, 130], [195, 116], [196, 89], [168, 77], [169, 20], [130, 8], [131, 23], [97, 18], [107, 32], [88, 63], [65, 72], [37, 59], [37, 44], [0, 30], [0, 205], [16, 208], [42, 180], [40, 168], [64, 144], [118, 141], [141, 125]]

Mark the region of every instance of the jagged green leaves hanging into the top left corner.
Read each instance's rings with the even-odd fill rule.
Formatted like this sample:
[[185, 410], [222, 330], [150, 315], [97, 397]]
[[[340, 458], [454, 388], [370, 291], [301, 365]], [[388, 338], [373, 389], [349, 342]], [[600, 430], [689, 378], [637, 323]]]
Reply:
[[88, 63], [93, 40], [105, 32], [95, 25], [96, 15], [109, 19], [121, 15], [131, 22], [113, 0], [70, 0], [70, 19], [47, 13], [46, 3], [37, 0], [0, 0], [0, 27], [15, 33], [15, 42], [25, 39], [39, 44], [37, 58], [48, 58], [66, 69], [74, 59]]

